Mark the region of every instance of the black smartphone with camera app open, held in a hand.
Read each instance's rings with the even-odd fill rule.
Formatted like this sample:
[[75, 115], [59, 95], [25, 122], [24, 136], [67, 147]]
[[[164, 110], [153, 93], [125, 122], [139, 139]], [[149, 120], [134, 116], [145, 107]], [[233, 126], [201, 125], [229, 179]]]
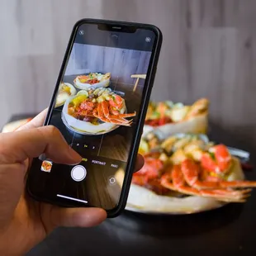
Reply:
[[76, 166], [33, 159], [26, 188], [58, 206], [126, 206], [162, 33], [156, 26], [83, 19], [73, 27], [44, 126], [81, 154]]

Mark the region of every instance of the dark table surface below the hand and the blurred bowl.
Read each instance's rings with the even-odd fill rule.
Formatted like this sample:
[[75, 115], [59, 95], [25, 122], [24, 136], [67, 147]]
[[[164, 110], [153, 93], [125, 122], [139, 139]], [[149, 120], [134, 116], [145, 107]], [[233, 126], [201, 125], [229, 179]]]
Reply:
[[[27, 116], [12, 116], [10, 121]], [[256, 164], [254, 155], [251, 161]], [[256, 170], [245, 174], [256, 179]], [[125, 211], [94, 228], [59, 228], [27, 256], [255, 255], [255, 228], [254, 191], [244, 204], [189, 216], [146, 216]]]

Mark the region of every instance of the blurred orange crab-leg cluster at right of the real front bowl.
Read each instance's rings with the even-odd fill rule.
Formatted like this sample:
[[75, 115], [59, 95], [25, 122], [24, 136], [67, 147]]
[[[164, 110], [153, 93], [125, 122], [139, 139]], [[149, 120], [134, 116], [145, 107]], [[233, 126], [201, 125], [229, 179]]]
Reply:
[[[213, 154], [213, 155], [211, 155]], [[214, 197], [220, 201], [244, 201], [250, 189], [256, 187], [254, 181], [227, 181], [234, 159], [225, 145], [214, 145], [201, 153], [201, 159], [182, 159], [181, 163], [169, 167], [161, 178], [161, 184], [178, 192], [201, 197]]]

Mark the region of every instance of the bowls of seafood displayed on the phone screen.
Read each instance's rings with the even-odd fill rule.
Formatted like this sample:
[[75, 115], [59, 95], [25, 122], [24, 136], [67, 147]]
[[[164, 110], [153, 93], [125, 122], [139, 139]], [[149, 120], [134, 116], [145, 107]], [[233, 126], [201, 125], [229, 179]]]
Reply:
[[102, 135], [119, 126], [131, 126], [123, 92], [109, 88], [111, 73], [79, 75], [60, 83], [55, 107], [62, 107], [64, 125], [81, 135]]

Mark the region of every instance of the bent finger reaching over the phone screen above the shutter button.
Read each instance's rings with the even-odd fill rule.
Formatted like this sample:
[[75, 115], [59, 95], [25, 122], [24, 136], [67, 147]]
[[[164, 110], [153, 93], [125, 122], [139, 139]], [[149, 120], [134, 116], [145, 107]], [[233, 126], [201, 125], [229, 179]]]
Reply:
[[55, 126], [21, 130], [0, 135], [0, 163], [22, 163], [46, 154], [55, 163], [78, 164], [82, 157], [69, 147]]

